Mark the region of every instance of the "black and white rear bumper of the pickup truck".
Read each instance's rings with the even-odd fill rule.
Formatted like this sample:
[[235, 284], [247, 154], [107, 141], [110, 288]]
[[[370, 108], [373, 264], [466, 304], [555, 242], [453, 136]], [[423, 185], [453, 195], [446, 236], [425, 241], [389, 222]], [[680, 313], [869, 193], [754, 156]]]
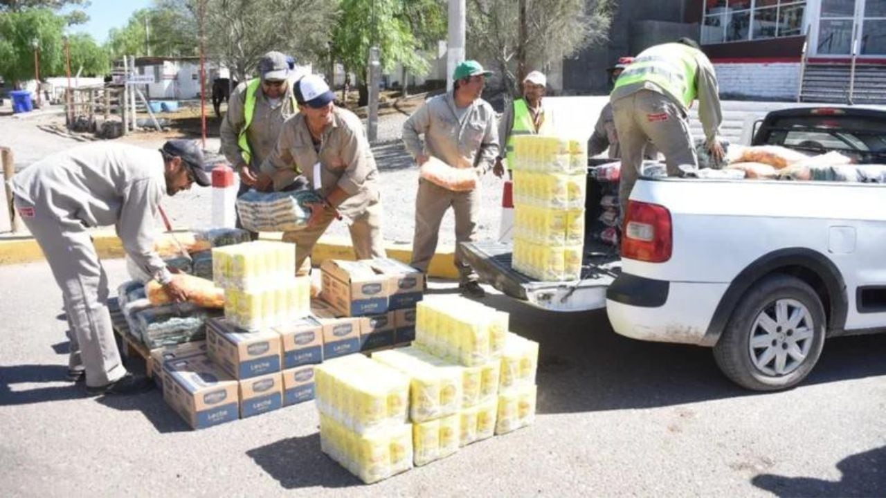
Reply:
[[619, 284], [619, 276], [606, 296], [612, 329], [625, 337], [657, 342], [702, 345], [728, 287], [622, 276], [627, 284]]

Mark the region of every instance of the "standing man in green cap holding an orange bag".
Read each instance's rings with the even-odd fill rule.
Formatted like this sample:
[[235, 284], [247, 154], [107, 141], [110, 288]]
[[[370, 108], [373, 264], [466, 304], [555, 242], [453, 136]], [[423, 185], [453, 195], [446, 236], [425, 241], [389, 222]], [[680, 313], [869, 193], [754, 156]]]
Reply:
[[[409, 117], [403, 125], [403, 143], [418, 166], [434, 156], [452, 167], [472, 167], [478, 177], [493, 167], [499, 153], [495, 112], [480, 98], [490, 74], [476, 60], [462, 62], [453, 74], [455, 89], [431, 98]], [[424, 135], [424, 144], [420, 135]], [[427, 271], [437, 250], [440, 222], [450, 206], [455, 212], [459, 289], [469, 296], [482, 297], [485, 292], [478, 284], [477, 273], [464, 261], [460, 244], [473, 241], [477, 235], [479, 183], [473, 191], [449, 191], [424, 179], [418, 181], [411, 266]]]

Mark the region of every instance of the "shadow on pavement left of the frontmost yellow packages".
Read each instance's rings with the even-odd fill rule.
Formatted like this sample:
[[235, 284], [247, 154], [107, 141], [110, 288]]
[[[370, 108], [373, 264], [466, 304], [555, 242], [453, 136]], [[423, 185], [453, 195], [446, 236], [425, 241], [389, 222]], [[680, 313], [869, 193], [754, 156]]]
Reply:
[[362, 486], [359, 479], [320, 451], [320, 434], [279, 440], [246, 452], [285, 489]]

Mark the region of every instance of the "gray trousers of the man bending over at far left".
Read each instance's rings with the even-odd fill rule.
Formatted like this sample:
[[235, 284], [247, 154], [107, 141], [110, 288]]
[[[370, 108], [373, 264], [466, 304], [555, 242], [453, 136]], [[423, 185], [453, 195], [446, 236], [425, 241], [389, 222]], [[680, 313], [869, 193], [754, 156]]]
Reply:
[[91, 387], [120, 379], [126, 368], [107, 307], [108, 277], [86, 227], [73, 215], [59, 216], [58, 208], [32, 206], [19, 198], [15, 206], [61, 288], [71, 328], [68, 367], [85, 370], [86, 385]]

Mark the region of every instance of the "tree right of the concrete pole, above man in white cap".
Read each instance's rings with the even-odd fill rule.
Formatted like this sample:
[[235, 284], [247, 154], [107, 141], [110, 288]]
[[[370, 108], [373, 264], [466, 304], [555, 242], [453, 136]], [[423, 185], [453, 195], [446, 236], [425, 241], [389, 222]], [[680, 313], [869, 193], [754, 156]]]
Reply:
[[491, 61], [502, 89], [516, 95], [530, 66], [548, 71], [555, 60], [605, 39], [614, 6], [615, 0], [469, 0], [469, 55]]

